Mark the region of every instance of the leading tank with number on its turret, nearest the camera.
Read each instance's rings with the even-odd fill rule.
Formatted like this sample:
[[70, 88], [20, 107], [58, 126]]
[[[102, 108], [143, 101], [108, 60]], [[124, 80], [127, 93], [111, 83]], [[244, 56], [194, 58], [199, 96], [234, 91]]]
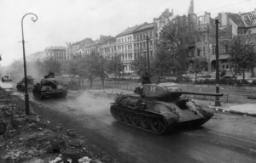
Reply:
[[149, 132], [162, 134], [174, 126], [189, 123], [201, 126], [213, 116], [213, 110], [195, 104], [182, 94], [222, 96], [219, 93], [183, 92], [176, 83], [144, 84], [135, 93], [116, 98], [110, 111], [115, 119]]

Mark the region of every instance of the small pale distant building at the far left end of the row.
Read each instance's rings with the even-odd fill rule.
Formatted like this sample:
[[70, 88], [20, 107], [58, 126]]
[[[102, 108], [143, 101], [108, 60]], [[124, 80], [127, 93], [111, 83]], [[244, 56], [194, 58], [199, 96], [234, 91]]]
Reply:
[[66, 48], [65, 47], [49, 47], [44, 49], [46, 57], [55, 59], [61, 65], [67, 61]]

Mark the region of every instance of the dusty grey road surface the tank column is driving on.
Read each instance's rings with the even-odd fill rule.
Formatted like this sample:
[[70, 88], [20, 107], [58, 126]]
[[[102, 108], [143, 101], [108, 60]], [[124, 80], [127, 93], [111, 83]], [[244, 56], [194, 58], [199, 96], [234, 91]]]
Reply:
[[[0, 87], [14, 85], [0, 82]], [[23, 97], [23, 93], [15, 93]], [[117, 122], [107, 98], [69, 92], [67, 98], [32, 98], [32, 108], [52, 123], [76, 129], [99, 155], [111, 162], [255, 162], [256, 119], [215, 114], [201, 128], [181, 128], [160, 136]], [[101, 154], [99, 151], [103, 151]]]

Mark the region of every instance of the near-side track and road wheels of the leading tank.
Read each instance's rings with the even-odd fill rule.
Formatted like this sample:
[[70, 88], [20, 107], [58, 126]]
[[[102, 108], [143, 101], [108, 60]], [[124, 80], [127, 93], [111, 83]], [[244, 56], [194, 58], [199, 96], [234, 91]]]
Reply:
[[[117, 105], [112, 105], [110, 112], [117, 121], [125, 123], [126, 125], [137, 127], [147, 132], [164, 134], [166, 132], [171, 132], [174, 128], [174, 124], [167, 125], [168, 122], [166, 121], [166, 118], [161, 115], [147, 114], [137, 110], [124, 110]], [[134, 121], [134, 119], [132, 120], [134, 116], [137, 116], [137, 122]], [[149, 124], [145, 124], [145, 121], [143, 121], [143, 119], [146, 121], [148, 119]]]

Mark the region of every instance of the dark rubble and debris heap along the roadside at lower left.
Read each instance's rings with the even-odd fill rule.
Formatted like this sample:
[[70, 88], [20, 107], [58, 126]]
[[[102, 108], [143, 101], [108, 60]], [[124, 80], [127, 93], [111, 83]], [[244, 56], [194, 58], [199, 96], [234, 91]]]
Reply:
[[0, 98], [0, 123], [6, 126], [0, 135], [0, 162], [109, 162], [94, 157], [73, 129], [63, 133], [61, 126], [52, 125], [33, 111], [25, 115], [24, 101], [1, 87]]

